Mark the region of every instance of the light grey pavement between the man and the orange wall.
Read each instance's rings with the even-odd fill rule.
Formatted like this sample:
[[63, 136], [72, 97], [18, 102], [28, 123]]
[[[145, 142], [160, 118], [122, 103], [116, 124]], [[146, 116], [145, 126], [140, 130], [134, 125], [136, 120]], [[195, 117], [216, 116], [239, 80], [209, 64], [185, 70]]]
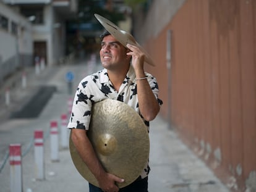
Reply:
[[229, 191], [160, 116], [150, 126], [150, 192]]

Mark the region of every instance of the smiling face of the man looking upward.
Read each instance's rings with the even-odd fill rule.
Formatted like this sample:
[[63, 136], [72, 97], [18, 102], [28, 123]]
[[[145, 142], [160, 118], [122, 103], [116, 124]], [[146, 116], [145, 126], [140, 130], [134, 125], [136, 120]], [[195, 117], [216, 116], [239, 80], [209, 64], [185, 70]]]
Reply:
[[105, 69], [115, 69], [129, 62], [128, 49], [112, 35], [105, 36], [101, 42], [100, 59]]

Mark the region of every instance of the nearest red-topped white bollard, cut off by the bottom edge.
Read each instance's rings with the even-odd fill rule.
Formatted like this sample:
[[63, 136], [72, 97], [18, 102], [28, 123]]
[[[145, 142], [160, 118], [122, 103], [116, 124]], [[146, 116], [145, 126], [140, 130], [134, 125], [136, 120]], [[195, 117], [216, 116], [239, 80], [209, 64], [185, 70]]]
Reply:
[[22, 192], [22, 158], [21, 145], [10, 144], [10, 176], [11, 176], [11, 192]]

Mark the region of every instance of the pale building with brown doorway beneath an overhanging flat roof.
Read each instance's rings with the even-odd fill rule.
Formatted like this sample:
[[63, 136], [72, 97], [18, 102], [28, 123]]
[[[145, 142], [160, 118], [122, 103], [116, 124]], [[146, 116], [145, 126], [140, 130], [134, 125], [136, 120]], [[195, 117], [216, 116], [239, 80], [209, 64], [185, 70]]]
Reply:
[[77, 0], [3, 0], [32, 22], [33, 62], [58, 64], [65, 56], [66, 20], [77, 12]]

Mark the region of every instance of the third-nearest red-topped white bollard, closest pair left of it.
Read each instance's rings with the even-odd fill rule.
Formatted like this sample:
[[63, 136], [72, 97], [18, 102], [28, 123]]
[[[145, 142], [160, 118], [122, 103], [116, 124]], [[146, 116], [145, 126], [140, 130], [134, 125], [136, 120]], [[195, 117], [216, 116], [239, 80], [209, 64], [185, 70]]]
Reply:
[[51, 121], [50, 130], [50, 140], [51, 140], [51, 161], [59, 161], [59, 135], [58, 135], [58, 122]]

